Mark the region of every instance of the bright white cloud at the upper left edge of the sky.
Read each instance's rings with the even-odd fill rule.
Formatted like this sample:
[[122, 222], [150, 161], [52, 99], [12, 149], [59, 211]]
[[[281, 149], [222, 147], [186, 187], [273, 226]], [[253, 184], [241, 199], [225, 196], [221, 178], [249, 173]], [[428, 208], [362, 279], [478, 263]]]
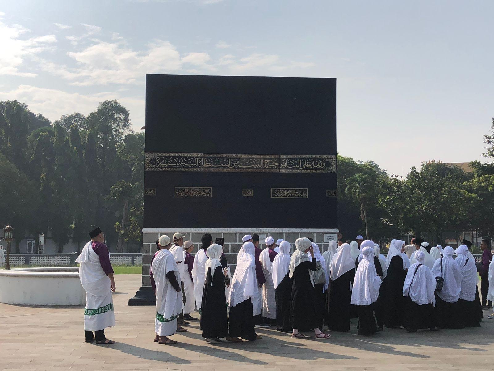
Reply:
[[1, 21], [4, 13], [0, 14], [0, 75], [15, 75], [35, 77], [36, 73], [20, 70], [26, 60], [36, 58], [43, 51], [53, 50], [56, 43], [55, 35], [37, 36], [21, 39], [29, 30], [19, 26], [9, 26]]

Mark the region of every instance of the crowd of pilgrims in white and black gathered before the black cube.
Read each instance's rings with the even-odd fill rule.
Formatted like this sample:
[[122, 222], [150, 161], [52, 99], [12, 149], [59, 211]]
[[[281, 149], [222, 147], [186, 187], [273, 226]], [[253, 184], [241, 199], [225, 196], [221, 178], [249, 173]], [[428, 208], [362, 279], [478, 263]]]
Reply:
[[[480, 326], [482, 307], [477, 289], [477, 267], [469, 246], [430, 248], [420, 238], [412, 245], [399, 239], [388, 254], [362, 236], [355, 241], [329, 242], [321, 254], [311, 238], [290, 243], [247, 234], [237, 257], [233, 277], [223, 253], [223, 238], [206, 233], [199, 251], [181, 233], [157, 241], [151, 262], [151, 283], [156, 293], [155, 341], [187, 331], [183, 325], [201, 316], [202, 337], [209, 343], [261, 339], [255, 328], [276, 326], [292, 338], [313, 332], [349, 331], [357, 318], [359, 335], [369, 336], [384, 327], [438, 331], [441, 328]], [[470, 244], [471, 245], [471, 244]], [[492, 298], [490, 298], [492, 300]]]

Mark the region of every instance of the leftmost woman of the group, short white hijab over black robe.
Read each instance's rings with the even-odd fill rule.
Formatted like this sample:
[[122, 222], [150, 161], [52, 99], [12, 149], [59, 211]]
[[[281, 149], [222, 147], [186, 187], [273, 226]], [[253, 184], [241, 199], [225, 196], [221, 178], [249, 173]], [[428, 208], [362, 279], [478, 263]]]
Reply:
[[225, 275], [219, 261], [223, 249], [221, 245], [213, 243], [206, 254], [206, 277], [201, 307], [202, 336], [208, 343], [221, 343], [220, 337], [228, 336], [228, 315], [225, 299]]

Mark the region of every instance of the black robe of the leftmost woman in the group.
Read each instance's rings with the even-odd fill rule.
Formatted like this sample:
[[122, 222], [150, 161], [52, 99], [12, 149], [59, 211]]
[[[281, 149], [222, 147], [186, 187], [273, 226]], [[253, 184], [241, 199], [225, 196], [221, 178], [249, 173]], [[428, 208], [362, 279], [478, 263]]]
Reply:
[[213, 277], [211, 277], [211, 270], [207, 270], [201, 306], [200, 329], [203, 330], [202, 336], [205, 338], [228, 336], [225, 275], [221, 266], [216, 267]]

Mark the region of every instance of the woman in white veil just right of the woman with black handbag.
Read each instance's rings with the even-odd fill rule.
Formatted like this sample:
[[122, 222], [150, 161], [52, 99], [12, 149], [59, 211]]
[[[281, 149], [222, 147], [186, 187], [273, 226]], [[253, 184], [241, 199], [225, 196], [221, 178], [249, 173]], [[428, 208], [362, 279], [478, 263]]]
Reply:
[[460, 245], [454, 251], [456, 259], [454, 262], [458, 265], [461, 272], [461, 291], [458, 298], [458, 307], [460, 318], [463, 320], [464, 327], [480, 327], [480, 318], [475, 314], [478, 312], [478, 302], [475, 300], [477, 292], [477, 267], [475, 261], [468, 257], [468, 247]]

